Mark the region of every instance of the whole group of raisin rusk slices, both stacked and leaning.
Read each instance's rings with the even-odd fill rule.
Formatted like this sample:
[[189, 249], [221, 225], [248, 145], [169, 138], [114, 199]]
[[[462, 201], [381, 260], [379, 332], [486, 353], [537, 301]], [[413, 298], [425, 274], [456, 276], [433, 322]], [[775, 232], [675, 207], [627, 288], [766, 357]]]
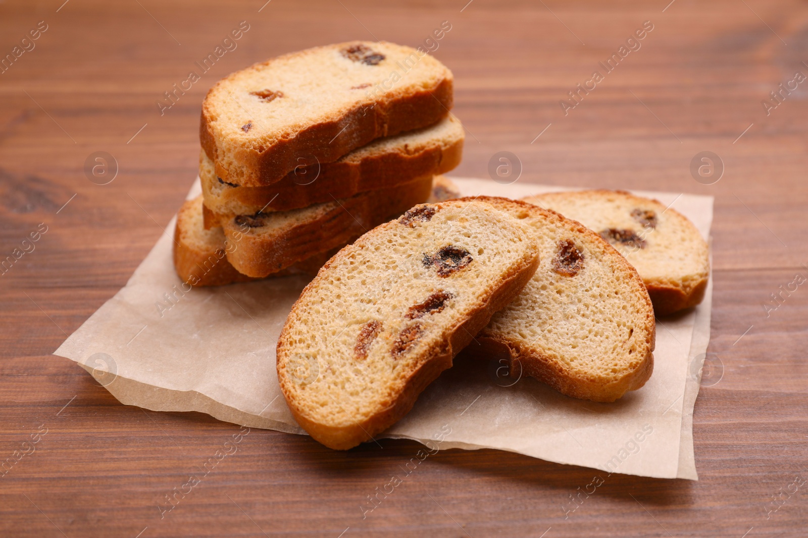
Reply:
[[461, 351], [458, 367], [495, 360], [614, 402], [653, 372], [655, 317], [704, 297], [705, 240], [655, 200], [458, 198], [440, 176], [461, 156], [451, 107], [439, 61], [368, 42], [253, 65], [204, 100], [203, 194], [179, 211], [177, 273], [192, 286], [316, 273], [276, 373], [330, 448], [384, 432]]

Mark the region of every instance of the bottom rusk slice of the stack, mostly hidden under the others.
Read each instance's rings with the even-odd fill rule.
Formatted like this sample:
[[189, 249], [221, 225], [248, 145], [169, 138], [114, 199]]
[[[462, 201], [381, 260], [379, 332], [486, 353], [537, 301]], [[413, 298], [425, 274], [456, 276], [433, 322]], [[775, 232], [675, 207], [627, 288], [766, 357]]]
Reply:
[[[177, 213], [174, 241], [175, 270], [183, 282], [191, 286], [223, 286], [255, 280], [239, 273], [227, 261], [227, 252], [238, 249], [238, 241], [225, 246], [225, 234], [221, 228], [205, 230], [202, 226], [201, 196], [183, 203]], [[305, 260], [297, 261], [271, 276], [314, 275], [332, 254], [333, 251], [309, 253]]]

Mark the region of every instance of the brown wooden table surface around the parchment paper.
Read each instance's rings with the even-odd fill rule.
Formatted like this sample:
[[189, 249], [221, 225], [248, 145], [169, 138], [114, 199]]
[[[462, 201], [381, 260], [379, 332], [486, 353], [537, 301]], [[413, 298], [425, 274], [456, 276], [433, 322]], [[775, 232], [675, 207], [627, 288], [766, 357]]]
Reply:
[[[0, 536], [808, 535], [808, 2], [63, 1], [0, 2], [0, 55], [30, 49], [0, 74], [0, 257], [29, 251], [0, 277], [0, 461], [16, 461], [0, 478]], [[164, 92], [241, 21], [238, 47], [161, 115]], [[599, 472], [448, 450], [363, 519], [419, 444], [335, 452], [253, 429], [161, 513], [238, 427], [124, 406], [51, 353], [183, 201], [218, 78], [318, 44], [417, 46], [443, 21], [435, 56], [467, 129], [457, 175], [487, 177], [504, 150], [523, 182], [715, 197], [709, 352], [723, 377], [696, 401], [701, 480], [612, 475], [565, 519]], [[559, 102], [644, 23], [640, 48], [565, 115]], [[704, 151], [723, 163], [713, 185], [691, 173]], [[117, 162], [107, 185], [85, 173], [94, 152]]]

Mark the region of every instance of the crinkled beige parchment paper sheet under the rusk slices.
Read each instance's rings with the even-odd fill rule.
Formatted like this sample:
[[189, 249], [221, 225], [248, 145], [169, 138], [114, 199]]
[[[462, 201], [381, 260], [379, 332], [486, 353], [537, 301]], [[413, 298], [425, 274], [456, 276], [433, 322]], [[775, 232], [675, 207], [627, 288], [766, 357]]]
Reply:
[[[452, 180], [465, 196], [521, 198], [564, 190]], [[199, 190], [196, 181], [189, 198]], [[712, 197], [638, 194], [672, 203], [709, 238]], [[124, 404], [201, 411], [250, 427], [305, 434], [280, 394], [275, 346], [308, 279], [186, 291], [171, 261], [173, 230], [172, 220], [127, 285], [54, 354], [78, 362]], [[617, 402], [567, 398], [530, 377], [500, 386], [509, 381], [492, 374], [495, 363], [461, 359], [381, 437], [427, 443], [451, 428], [442, 449], [499, 448], [606, 472], [696, 480], [692, 410], [700, 372], [692, 364], [709, 342], [710, 282], [694, 311], [658, 320], [654, 374]]]

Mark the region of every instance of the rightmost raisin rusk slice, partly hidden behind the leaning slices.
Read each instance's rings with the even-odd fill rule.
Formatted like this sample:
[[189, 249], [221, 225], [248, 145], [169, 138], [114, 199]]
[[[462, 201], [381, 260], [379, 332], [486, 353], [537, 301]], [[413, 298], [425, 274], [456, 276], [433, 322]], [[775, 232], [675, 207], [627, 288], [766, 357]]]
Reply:
[[705, 296], [709, 252], [684, 215], [621, 190], [582, 190], [524, 198], [599, 233], [637, 268], [656, 315], [695, 307]]

